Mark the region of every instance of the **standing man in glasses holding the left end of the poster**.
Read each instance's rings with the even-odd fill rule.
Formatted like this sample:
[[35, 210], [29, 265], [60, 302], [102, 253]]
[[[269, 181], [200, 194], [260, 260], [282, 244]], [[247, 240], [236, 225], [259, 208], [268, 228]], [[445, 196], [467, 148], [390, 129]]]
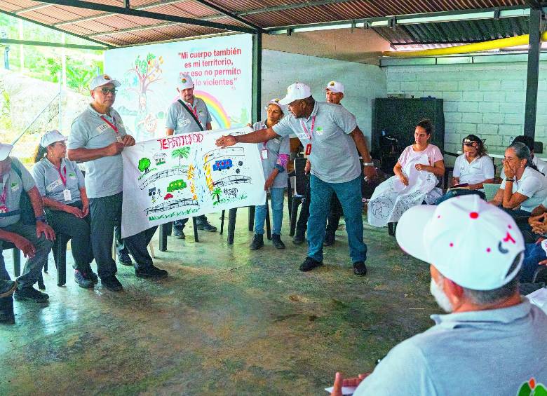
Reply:
[[[119, 81], [107, 74], [93, 78], [90, 84], [93, 100], [72, 123], [67, 144], [67, 156], [71, 161], [86, 162], [93, 256], [102, 285], [113, 291], [123, 289], [116, 278], [116, 261], [112, 259], [114, 228], [121, 226], [121, 151], [135, 145], [135, 139], [126, 134], [121, 116], [112, 109], [119, 86]], [[167, 276], [167, 271], [152, 264], [147, 251], [155, 231], [156, 228], [149, 228], [123, 240], [135, 258], [135, 275], [140, 278]]]

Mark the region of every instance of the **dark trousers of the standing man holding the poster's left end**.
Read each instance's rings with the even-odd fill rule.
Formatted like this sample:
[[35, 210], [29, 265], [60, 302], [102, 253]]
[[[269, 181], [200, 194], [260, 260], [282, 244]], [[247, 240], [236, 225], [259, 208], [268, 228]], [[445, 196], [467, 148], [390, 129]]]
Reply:
[[[119, 228], [116, 233], [121, 233], [121, 204], [122, 193], [89, 200], [91, 245], [100, 278], [112, 276], [117, 271], [116, 261], [112, 259], [112, 243], [114, 228]], [[123, 240], [120, 238], [122, 248], [126, 247], [135, 259], [135, 268], [146, 268], [152, 265], [147, 246], [157, 228], [157, 226], [149, 228]]]

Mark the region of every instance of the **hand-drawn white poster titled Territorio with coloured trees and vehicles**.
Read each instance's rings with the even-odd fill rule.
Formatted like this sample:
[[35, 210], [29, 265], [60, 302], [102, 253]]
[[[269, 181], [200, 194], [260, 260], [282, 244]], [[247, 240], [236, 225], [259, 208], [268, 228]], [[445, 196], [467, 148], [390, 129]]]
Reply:
[[122, 238], [168, 221], [263, 205], [266, 191], [257, 145], [215, 146], [222, 135], [250, 130], [174, 135], [123, 149]]

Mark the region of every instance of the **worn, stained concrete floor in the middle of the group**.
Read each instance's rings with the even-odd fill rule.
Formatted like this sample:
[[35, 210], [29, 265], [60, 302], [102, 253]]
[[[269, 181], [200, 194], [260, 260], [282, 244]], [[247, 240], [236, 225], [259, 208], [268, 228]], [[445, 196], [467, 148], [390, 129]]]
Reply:
[[159, 252], [156, 234], [169, 278], [119, 266], [120, 293], [81, 289], [72, 271], [57, 287], [50, 256], [48, 305], [15, 302], [16, 325], [0, 326], [0, 395], [326, 395], [335, 371], [370, 371], [431, 326], [428, 266], [386, 228], [365, 226], [366, 277], [352, 275], [344, 226], [325, 265], [302, 273], [306, 245], [290, 243], [286, 219], [285, 251], [250, 252], [246, 209], [233, 246], [219, 233], [194, 243], [190, 227]]

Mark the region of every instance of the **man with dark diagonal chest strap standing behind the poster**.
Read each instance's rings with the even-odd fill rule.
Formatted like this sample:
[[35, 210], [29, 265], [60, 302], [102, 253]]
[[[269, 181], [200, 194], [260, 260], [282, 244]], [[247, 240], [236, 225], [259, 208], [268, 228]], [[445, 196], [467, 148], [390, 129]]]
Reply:
[[[207, 105], [199, 97], [194, 96], [194, 81], [187, 74], [180, 75], [177, 86], [180, 99], [170, 105], [167, 112], [166, 132], [168, 136], [180, 135], [183, 133], [198, 132], [200, 130], [211, 130], [211, 115]], [[184, 225], [188, 219], [173, 221], [175, 228], [174, 235], [184, 239]], [[198, 230], [205, 230], [214, 233], [217, 227], [212, 226], [205, 214], [196, 217]]]

